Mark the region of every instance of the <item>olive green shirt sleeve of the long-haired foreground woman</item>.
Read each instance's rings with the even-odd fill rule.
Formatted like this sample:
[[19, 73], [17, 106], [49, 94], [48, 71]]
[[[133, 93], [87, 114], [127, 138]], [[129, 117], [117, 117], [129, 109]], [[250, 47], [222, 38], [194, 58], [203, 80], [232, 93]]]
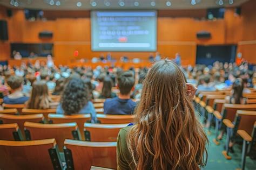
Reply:
[[[119, 131], [117, 138], [117, 169], [135, 169], [132, 157], [126, 143], [126, 134], [131, 126], [127, 126]], [[131, 164], [132, 163], [132, 164]]]

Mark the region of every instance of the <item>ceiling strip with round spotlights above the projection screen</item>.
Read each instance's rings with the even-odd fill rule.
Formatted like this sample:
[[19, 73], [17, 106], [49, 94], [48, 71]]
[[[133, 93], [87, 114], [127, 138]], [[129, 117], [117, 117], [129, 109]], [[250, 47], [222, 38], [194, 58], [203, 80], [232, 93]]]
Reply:
[[136, 10], [220, 8], [240, 6], [246, 1], [248, 0], [0, 0], [0, 4], [9, 8], [44, 10]]

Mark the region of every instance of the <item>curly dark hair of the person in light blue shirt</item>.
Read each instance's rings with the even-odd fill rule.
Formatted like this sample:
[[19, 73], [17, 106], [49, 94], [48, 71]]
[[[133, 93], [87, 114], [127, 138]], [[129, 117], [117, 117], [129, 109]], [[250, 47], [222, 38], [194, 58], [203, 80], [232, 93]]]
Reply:
[[67, 115], [78, 114], [89, 101], [89, 93], [86, 84], [78, 77], [69, 81], [63, 91], [60, 103]]

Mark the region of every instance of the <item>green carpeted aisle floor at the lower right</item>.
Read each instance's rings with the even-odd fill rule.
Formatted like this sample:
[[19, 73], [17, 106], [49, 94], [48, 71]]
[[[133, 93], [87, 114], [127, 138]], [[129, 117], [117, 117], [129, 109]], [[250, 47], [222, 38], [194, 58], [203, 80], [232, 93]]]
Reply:
[[[212, 134], [208, 135], [210, 145], [208, 146], [208, 161], [204, 170], [235, 170], [241, 167], [241, 153], [242, 145], [234, 146], [234, 153], [230, 153], [232, 159], [226, 160], [224, 155], [221, 153], [224, 150], [224, 144], [226, 137], [220, 141], [220, 145], [215, 145], [213, 143], [214, 130], [211, 131]], [[256, 160], [252, 160], [250, 157], [246, 157], [246, 170], [256, 169]]]

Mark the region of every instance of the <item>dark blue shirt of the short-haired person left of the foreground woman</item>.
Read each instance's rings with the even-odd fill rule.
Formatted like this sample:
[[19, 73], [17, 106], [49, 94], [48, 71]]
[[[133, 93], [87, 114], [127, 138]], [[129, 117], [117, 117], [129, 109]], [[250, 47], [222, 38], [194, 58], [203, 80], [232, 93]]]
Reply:
[[104, 114], [107, 115], [132, 115], [136, 102], [131, 99], [120, 99], [118, 97], [108, 98], [104, 102]]

